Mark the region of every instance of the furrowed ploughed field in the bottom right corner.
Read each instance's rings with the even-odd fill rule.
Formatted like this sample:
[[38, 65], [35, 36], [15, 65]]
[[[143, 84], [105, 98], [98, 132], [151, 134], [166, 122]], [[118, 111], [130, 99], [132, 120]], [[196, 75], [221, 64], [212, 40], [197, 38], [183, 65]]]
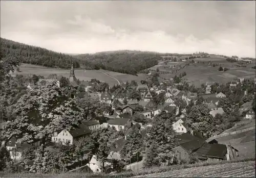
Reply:
[[136, 177], [255, 177], [255, 162], [194, 167]]

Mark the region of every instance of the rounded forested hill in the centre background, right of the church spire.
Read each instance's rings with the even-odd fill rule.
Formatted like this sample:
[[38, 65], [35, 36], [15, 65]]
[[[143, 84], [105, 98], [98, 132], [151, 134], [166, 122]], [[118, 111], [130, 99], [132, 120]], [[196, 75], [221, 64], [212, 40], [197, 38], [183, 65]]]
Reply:
[[157, 65], [158, 61], [162, 60], [160, 54], [136, 50], [82, 54], [76, 57], [80, 60], [88, 60], [96, 66], [95, 69], [101, 68], [133, 75], [136, 75], [141, 70]]

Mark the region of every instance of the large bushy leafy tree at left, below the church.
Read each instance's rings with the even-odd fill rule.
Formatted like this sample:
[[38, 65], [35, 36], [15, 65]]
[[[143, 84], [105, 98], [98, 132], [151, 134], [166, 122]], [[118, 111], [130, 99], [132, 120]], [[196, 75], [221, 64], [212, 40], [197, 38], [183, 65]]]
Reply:
[[80, 124], [81, 109], [73, 99], [65, 96], [56, 83], [27, 91], [14, 105], [14, 120], [6, 124], [4, 138], [17, 136], [17, 143], [31, 143], [40, 139], [51, 141], [51, 135]]

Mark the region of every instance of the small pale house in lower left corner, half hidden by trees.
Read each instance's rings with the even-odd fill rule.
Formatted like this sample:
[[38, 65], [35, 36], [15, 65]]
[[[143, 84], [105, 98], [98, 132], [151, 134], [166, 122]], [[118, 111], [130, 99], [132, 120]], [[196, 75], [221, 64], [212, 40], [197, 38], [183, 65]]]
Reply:
[[32, 147], [33, 145], [28, 143], [16, 145], [16, 147], [10, 150], [11, 159], [14, 160], [15, 162], [19, 162], [22, 159], [22, 152]]

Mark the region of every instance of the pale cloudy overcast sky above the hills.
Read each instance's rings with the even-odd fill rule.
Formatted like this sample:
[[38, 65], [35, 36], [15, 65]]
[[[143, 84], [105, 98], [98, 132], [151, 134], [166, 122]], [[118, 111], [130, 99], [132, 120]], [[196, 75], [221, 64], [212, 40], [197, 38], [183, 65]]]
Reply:
[[255, 58], [255, 1], [1, 1], [1, 37], [61, 53]]

